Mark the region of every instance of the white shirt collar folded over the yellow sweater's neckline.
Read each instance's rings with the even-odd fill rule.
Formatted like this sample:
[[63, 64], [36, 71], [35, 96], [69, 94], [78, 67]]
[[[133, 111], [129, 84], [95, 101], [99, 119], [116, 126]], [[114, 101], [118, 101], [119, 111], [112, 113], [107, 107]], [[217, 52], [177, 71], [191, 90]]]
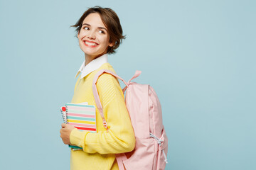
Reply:
[[78, 73], [76, 74], [75, 78], [78, 77], [78, 75], [81, 73], [80, 79], [86, 77], [91, 72], [95, 71], [95, 69], [98, 69], [102, 66], [102, 64], [105, 64], [107, 62], [107, 54], [102, 55], [100, 57], [97, 57], [95, 60], [92, 60], [85, 66], [85, 61], [82, 63], [80, 69], [78, 70]]

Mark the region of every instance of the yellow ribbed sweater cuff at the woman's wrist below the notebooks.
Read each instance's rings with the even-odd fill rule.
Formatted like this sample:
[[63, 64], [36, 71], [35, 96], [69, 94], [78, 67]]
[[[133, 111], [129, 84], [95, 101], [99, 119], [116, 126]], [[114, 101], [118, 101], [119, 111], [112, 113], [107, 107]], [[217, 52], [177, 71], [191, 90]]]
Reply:
[[78, 147], [85, 146], [85, 137], [88, 131], [79, 131], [78, 129], [73, 129], [70, 133], [70, 143], [71, 145], [76, 145]]

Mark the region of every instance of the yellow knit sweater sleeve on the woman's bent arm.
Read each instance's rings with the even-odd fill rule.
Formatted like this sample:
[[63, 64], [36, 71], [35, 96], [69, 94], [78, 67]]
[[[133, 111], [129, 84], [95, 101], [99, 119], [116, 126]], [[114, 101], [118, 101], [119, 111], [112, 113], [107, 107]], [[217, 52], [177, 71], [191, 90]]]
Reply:
[[75, 129], [70, 134], [70, 142], [82, 147], [87, 153], [117, 154], [132, 151], [135, 147], [134, 131], [117, 79], [110, 74], [102, 74], [97, 81], [97, 90], [108, 130], [90, 133]]

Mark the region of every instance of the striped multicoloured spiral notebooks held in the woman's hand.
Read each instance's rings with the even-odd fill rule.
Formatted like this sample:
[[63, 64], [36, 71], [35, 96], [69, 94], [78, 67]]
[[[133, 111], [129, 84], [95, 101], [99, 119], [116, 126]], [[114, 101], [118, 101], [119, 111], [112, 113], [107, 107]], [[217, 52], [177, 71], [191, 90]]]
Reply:
[[[66, 103], [60, 108], [63, 122], [73, 125], [80, 131], [97, 132], [95, 106], [87, 103]], [[73, 150], [82, 149], [81, 147], [69, 145]]]

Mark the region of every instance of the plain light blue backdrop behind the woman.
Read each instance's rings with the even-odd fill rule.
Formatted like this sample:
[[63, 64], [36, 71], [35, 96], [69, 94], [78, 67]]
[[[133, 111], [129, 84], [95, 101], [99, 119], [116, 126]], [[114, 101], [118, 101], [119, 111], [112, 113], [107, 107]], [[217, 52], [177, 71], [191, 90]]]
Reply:
[[[84, 60], [71, 25], [100, 5], [127, 39], [109, 62], [154, 87], [166, 169], [256, 169], [255, 1], [0, 1], [0, 169], [69, 169], [59, 108]], [[4, 108], [4, 109], [3, 109]]]

